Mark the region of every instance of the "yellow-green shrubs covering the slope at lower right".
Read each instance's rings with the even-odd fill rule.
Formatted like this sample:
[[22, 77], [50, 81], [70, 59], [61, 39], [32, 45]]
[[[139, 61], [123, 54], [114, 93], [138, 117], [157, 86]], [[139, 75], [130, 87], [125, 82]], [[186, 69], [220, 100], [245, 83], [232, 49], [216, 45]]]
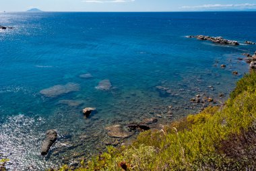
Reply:
[[[238, 81], [224, 106], [208, 107], [128, 147], [108, 147], [77, 170], [255, 170], [256, 73]], [[60, 170], [68, 170], [63, 166]]]

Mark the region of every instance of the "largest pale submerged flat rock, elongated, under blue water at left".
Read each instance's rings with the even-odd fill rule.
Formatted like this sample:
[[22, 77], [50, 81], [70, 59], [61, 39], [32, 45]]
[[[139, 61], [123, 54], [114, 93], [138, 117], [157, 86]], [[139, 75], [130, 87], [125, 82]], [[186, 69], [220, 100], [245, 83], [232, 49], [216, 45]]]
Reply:
[[66, 85], [57, 85], [40, 91], [40, 94], [48, 98], [55, 98], [69, 92], [77, 92], [80, 86], [77, 83], [67, 83]]

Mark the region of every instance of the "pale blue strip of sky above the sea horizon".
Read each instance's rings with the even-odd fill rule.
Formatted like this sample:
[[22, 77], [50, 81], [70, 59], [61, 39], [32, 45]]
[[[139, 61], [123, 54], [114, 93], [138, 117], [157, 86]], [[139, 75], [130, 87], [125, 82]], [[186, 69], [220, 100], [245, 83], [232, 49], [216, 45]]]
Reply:
[[256, 11], [256, 0], [0, 0], [0, 11]]

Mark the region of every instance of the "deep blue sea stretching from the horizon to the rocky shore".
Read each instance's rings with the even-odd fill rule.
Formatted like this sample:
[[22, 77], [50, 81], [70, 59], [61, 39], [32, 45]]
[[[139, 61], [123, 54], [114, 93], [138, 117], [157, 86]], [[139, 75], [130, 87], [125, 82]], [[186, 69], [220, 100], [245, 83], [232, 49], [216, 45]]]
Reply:
[[[104, 127], [162, 114], [166, 123], [198, 112], [190, 99], [228, 98], [249, 71], [242, 53], [254, 53], [256, 12], [197, 13], [0, 13], [0, 153], [11, 170], [42, 170], [82, 154], [108, 139]], [[185, 38], [223, 36], [240, 46]], [[221, 69], [220, 65], [227, 65]], [[238, 71], [239, 75], [232, 75]], [[92, 74], [90, 79], [79, 75]], [[109, 79], [112, 89], [95, 87]], [[80, 90], [47, 98], [40, 90], [77, 83]], [[156, 86], [171, 90], [163, 94]], [[219, 94], [224, 93], [224, 99]], [[76, 100], [80, 106], [60, 104]], [[166, 108], [175, 108], [166, 118]], [[81, 110], [96, 107], [85, 119]], [[47, 129], [59, 139], [47, 158], [40, 144]], [[88, 137], [83, 139], [82, 137]], [[74, 158], [75, 158], [74, 157]], [[65, 158], [67, 158], [65, 160]]]

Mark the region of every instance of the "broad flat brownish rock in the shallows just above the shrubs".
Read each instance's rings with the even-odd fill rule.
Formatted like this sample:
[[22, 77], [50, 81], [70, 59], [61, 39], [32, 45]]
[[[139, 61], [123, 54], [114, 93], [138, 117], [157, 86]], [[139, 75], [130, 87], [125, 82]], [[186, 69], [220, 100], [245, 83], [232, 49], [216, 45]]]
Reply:
[[105, 128], [108, 131], [109, 137], [114, 138], [128, 138], [133, 135], [133, 133], [126, 131], [121, 125], [112, 125]]

